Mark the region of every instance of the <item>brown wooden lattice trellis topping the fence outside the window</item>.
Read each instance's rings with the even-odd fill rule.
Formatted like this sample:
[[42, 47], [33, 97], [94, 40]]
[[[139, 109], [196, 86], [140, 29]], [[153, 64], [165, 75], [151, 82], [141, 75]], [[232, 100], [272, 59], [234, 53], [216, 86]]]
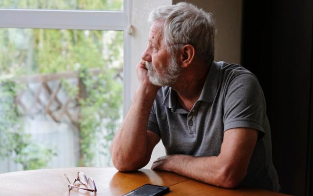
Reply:
[[[99, 71], [91, 70], [91, 72], [96, 74]], [[62, 91], [62, 79], [77, 80], [76, 86], [73, 86], [73, 88], [78, 87], [79, 89], [75, 98], [67, 96], [63, 98], [64, 100], [60, 100], [58, 94]], [[70, 112], [73, 109], [79, 110], [79, 99], [86, 98], [86, 87], [79, 78], [78, 72], [23, 76], [19, 77], [17, 82], [24, 84], [26, 87], [15, 98], [15, 103], [22, 108], [24, 115], [33, 116], [38, 113], [45, 113], [55, 122], [61, 122], [62, 119], [67, 117], [72, 124], [76, 126], [79, 124], [79, 112]], [[49, 83], [56, 85], [49, 85]], [[33, 84], [37, 84], [37, 87], [32, 88], [31, 85]], [[43, 94], [46, 97], [45, 100], [41, 98]], [[27, 97], [27, 104], [25, 103], [25, 97]]]

